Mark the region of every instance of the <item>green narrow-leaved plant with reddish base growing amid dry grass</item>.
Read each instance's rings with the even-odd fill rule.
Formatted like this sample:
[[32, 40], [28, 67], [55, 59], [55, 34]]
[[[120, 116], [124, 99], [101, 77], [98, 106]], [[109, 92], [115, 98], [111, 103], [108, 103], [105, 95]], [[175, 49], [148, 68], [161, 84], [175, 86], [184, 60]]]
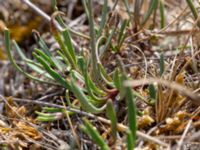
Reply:
[[[142, 96], [131, 87], [124, 87], [123, 82], [128, 80], [128, 76], [120, 58], [118, 60], [118, 67], [115, 68], [111, 74], [107, 73], [106, 68], [101, 63], [101, 58], [109, 49], [116, 53], [120, 51], [127, 36], [126, 29], [130, 24], [133, 24], [133, 16], [135, 16], [134, 21], [136, 26], [142, 28], [152, 16], [153, 12], [156, 11], [157, 7], [160, 6], [161, 27], [163, 28], [165, 26], [163, 1], [152, 0], [147, 13], [145, 13], [144, 17], [139, 18], [139, 15], [137, 15], [140, 14], [139, 9], [136, 9], [133, 15], [129, 7], [129, 2], [125, 0], [124, 5], [128, 12], [129, 19], [120, 20], [115, 16], [113, 13], [114, 11], [109, 11], [114, 10], [117, 3], [113, 8], [109, 9], [108, 0], [104, 0], [99, 24], [94, 21], [92, 2], [92, 0], [82, 0], [89, 21], [89, 36], [85, 36], [82, 33], [73, 31], [64, 24], [61, 17], [63, 13], [58, 11], [56, 1], [52, 0], [52, 8], [55, 13], [51, 16], [50, 21], [51, 34], [60, 46], [56, 54], [52, 54], [45, 41], [40, 36], [37, 36], [39, 47], [34, 50], [34, 59], [31, 60], [25, 56], [18, 44], [12, 41], [21, 59], [28, 67], [37, 73], [37, 75], [32, 75], [24, 71], [15, 62], [12, 56], [10, 32], [8, 29], [4, 31], [6, 51], [11, 64], [26, 77], [40, 82], [41, 84], [44, 83], [50, 86], [64, 88], [66, 90], [65, 100], [67, 106], [83, 110], [87, 113], [106, 114], [107, 118], [111, 121], [111, 136], [115, 142], [118, 136], [118, 118], [114, 103], [115, 101], [124, 101], [127, 107], [129, 127], [126, 131], [126, 143], [127, 149], [132, 150], [135, 146], [137, 131], [135, 99], [136, 97], [141, 98]], [[136, 0], [135, 5], [140, 6], [142, 4]], [[115, 16], [113, 17], [114, 21], [112, 20], [113, 18], [109, 18], [109, 15]], [[57, 24], [62, 27], [62, 30], [58, 29]], [[75, 43], [71, 34], [89, 40], [89, 58], [82, 53], [77, 54], [75, 52]], [[114, 37], [116, 38], [116, 42], [112, 41]], [[65, 74], [66, 71], [69, 72], [67, 75]], [[161, 73], [162, 72], [163, 70], [161, 70]], [[150, 86], [149, 89], [151, 98], [155, 99], [156, 93], [154, 87]], [[80, 105], [74, 105], [73, 101], [76, 99], [79, 101]], [[39, 121], [49, 122], [62, 119], [74, 113], [65, 109], [44, 107], [43, 112], [36, 112], [36, 114], [38, 115], [37, 119]], [[108, 143], [90, 121], [84, 118], [83, 122], [84, 124], [81, 125], [80, 128], [91, 137], [101, 149], [109, 149]]]

